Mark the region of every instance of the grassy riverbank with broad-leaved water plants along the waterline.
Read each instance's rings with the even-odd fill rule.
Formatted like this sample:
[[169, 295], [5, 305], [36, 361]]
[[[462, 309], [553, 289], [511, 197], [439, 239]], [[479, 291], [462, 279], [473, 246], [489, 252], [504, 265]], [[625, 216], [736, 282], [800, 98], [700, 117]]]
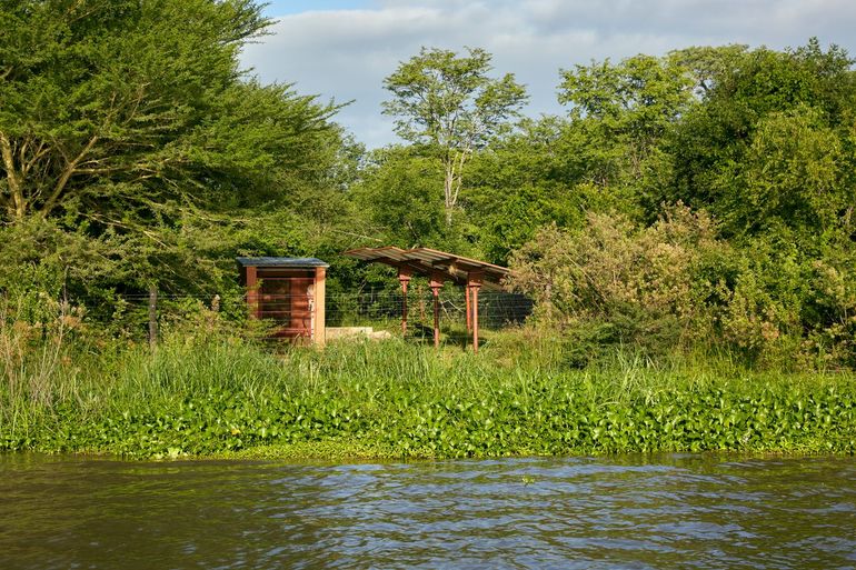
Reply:
[[[36, 369], [32, 369], [33, 373]], [[29, 382], [29, 383], [28, 383]], [[41, 382], [41, 383], [39, 383]], [[390, 340], [272, 354], [180, 339], [4, 382], [0, 449], [128, 458], [854, 453], [850, 373], [480, 354]]]

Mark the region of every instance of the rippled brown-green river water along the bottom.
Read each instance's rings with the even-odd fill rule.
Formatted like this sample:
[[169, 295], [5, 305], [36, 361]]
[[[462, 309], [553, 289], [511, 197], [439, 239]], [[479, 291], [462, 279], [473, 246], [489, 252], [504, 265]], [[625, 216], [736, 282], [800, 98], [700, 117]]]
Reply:
[[0, 456], [19, 568], [856, 568], [856, 459]]

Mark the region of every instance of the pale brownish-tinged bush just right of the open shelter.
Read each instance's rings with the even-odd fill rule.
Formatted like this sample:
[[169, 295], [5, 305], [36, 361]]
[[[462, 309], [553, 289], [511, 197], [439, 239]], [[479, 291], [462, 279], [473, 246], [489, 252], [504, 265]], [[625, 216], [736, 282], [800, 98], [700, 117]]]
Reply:
[[584, 228], [546, 228], [517, 251], [511, 284], [585, 347], [664, 353], [708, 339], [729, 253], [709, 217], [681, 206], [644, 229], [590, 214]]

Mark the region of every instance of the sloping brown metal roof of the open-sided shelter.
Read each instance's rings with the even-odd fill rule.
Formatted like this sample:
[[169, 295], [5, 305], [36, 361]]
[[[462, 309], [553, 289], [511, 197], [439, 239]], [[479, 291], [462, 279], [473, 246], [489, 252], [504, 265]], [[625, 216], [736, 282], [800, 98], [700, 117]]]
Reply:
[[440, 273], [458, 284], [466, 284], [469, 273], [478, 273], [486, 289], [501, 289], [502, 279], [511, 274], [511, 270], [505, 267], [429, 248], [359, 248], [346, 251], [345, 254], [364, 261], [409, 269], [429, 277]]

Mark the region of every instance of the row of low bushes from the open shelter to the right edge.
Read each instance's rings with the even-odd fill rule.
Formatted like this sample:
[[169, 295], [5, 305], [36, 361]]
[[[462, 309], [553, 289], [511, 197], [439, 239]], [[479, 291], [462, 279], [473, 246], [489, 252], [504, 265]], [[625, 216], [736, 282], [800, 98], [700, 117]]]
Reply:
[[615, 347], [656, 357], [700, 346], [766, 368], [853, 368], [852, 246], [813, 250], [788, 236], [737, 249], [681, 204], [648, 228], [589, 214], [583, 229], [545, 228], [517, 251], [510, 284], [536, 299], [537, 322], [563, 332], [577, 366]]

